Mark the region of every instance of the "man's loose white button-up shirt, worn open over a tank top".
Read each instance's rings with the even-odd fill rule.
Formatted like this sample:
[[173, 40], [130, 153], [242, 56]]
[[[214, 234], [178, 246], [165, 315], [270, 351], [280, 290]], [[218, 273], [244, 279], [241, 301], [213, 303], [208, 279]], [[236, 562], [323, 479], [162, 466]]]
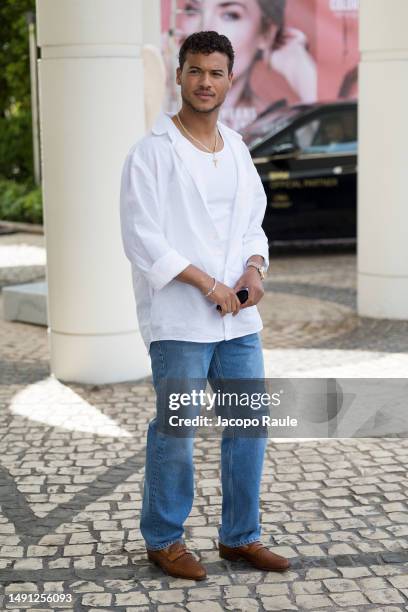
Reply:
[[[240, 134], [217, 122], [234, 154], [238, 185], [227, 256], [205, 196], [205, 173], [191, 160], [191, 143], [162, 112], [150, 133], [128, 152], [121, 178], [120, 223], [131, 262], [136, 313], [149, 351], [155, 340], [218, 342], [262, 329], [258, 309], [221, 316], [199, 289], [175, 278], [193, 264], [233, 287], [251, 255], [269, 265], [262, 229], [266, 195]], [[220, 181], [228, 176], [220, 175]]]

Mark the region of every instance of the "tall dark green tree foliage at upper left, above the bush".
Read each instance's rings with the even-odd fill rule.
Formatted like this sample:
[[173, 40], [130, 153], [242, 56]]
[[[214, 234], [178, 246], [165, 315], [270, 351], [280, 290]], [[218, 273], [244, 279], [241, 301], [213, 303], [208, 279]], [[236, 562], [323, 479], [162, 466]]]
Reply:
[[0, 176], [19, 182], [33, 176], [28, 11], [35, 0], [0, 2]]

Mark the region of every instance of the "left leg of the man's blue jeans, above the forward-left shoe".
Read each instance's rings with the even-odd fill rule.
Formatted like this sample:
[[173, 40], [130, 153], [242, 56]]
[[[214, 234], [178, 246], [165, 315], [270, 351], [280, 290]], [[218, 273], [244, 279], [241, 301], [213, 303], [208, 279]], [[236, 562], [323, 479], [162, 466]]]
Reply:
[[[214, 346], [215, 343], [178, 340], [152, 342], [150, 357], [158, 397], [160, 381], [165, 378], [182, 379], [186, 386], [190, 384], [190, 378], [206, 380]], [[140, 518], [140, 531], [151, 550], [183, 541], [183, 524], [194, 500], [194, 438], [169, 435], [159, 430], [161, 403], [157, 401], [158, 412], [150, 421], [147, 432]]]

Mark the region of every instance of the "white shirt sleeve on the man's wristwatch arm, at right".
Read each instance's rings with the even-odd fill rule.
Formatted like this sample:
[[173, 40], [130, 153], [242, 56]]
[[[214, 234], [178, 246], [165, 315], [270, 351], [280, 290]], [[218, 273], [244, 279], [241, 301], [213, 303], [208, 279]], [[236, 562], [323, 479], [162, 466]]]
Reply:
[[269, 244], [268, 238], [262, 229], [262, 222], [266, 210], [266, 194], [262, 185], [261, 178], [248, 153], [248, 164], [250, 166], [250, 193], [252, 194], [252, 207], [250, 211], [248, 228], [243, 236], [244, 263], [251, 255], [262, 255], [265, 260], [265, 267], [269, 267]]

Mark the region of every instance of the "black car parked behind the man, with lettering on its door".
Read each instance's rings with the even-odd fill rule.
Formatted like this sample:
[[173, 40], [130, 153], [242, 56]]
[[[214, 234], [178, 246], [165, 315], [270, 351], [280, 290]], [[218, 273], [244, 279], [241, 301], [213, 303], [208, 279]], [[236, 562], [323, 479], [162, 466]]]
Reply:
[[265, 112], [243, 139], [267, 194], [263, 228], [271, 245], [355, 242], [355, 101]]

